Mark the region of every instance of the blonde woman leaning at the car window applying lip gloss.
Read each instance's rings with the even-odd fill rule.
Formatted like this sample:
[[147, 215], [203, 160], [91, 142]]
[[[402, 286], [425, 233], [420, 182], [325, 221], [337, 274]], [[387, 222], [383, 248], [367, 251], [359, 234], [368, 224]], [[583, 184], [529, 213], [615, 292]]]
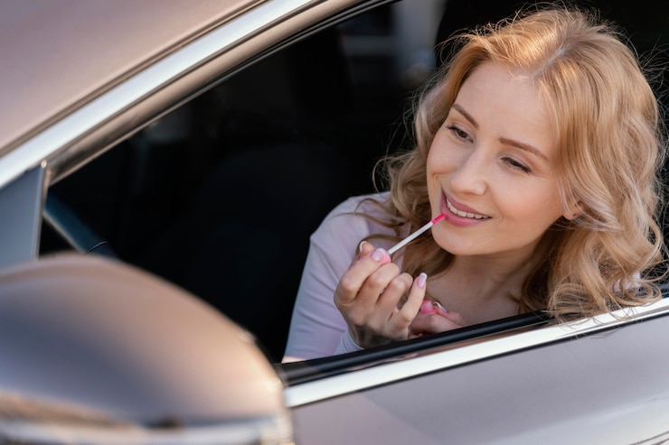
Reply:
[[563, 8], [459, 42], [419, 98], [416, 148], [386, 162], [390, 190], [349, 199], [312, 236], [286, 360], [661, 297], [664, 141], [633, 52]]

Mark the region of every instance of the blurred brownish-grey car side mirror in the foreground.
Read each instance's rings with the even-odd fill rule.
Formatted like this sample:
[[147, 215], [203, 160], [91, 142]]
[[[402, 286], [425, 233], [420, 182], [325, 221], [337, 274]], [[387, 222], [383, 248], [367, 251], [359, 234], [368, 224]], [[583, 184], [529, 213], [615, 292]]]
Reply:
[[0, 272], [0, 438], [279, 444], [292, 429], [248, 332], [127, 264], [64, 254]]

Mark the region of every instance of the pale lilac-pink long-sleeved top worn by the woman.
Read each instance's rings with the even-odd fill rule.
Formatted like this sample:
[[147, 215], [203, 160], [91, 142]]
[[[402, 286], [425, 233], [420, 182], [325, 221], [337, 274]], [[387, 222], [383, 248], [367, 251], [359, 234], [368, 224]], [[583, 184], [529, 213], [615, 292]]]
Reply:
[[[290, 322], [286, 357], [310, 359], [361, 349], [348, 335], [346, 322], [334, 305], [334, 289], [365, 236], [394, 235], [392, 229], [352, 214], [357, 211], [383, 219], [385, 212], [363, 199], [384, 200], [387, 196], [380, 193], [345, 200], [325, 217], [311, 236]], [[386, 249], [392, 246], [390, 241], [384, 240], [374, 240], [372, 244]]]

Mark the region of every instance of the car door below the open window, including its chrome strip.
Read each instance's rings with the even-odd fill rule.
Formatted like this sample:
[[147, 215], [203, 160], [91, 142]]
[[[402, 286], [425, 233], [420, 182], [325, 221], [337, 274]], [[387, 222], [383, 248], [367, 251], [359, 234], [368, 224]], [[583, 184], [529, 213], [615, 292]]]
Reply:
[[632, 320], [607, 315], [563, 326], [500, 322], [472, 332], [474, 341], [445, 333], [401, 352], [284, 365], [296, 437], [662, 443], [669, 439], [668, 308], [664, 300]]

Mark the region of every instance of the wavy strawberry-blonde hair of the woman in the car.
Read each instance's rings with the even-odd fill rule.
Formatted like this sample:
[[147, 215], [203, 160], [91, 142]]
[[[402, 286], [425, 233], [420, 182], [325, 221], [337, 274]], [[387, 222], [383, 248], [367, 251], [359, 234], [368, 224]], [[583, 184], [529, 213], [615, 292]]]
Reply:
[[[664, 162], [660, 112], [635, 54], [594, 14], [553, 8], [518, 15], [457, 37], [459, 50], [414, 109], [415, 149], [385, 160], [389, 226], [430, 218], [426, 159], [457, 93], [481, 63], [528, 74], [559, 135], [554, 167], [565, 209], [542, 238], [542, 261], [523, 285], [520, 311], [558, 319], [590, 316], [661, 297], [664, 239], [656, 216]], [[452, 255], [425, 236], [404, 253], [404, 269], [429, 274]], [[664, 267], [664, 265], [662, 265]], [[660, 267], [661, 268], [661, 267]]]

